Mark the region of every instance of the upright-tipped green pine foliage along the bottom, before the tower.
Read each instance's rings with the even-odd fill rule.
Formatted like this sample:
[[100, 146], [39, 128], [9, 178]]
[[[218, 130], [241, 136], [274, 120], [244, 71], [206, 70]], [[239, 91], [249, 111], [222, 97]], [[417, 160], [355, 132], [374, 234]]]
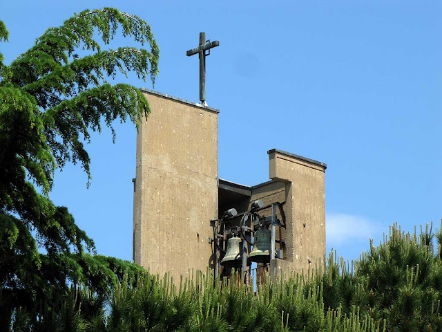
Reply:
[[10, 324], [17, 331], [442, 331], [442, 237], [434, 235], [394, 225], [354, 264], [332, 253], [318, 270], [278, 281], [267, 276], [256, 289], [238, 275], [214, 280], [199, 271], [177, 287], [168, 275], [126, 263], [113, 267], [128, 272], [111, 292], [72, 286], [57, 302], [41, 304], [38, 315], [16, 309]]

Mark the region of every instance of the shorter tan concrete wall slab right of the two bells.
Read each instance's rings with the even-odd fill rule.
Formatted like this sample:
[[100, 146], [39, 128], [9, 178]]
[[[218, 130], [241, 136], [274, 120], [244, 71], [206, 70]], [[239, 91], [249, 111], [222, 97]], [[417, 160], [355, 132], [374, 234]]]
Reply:
[[284, 268], [298, 273], [323, 264], [325, 257], [326, 168], [323, 163], [285, 151], [269, 151], [269, 177], [286, 183]]

